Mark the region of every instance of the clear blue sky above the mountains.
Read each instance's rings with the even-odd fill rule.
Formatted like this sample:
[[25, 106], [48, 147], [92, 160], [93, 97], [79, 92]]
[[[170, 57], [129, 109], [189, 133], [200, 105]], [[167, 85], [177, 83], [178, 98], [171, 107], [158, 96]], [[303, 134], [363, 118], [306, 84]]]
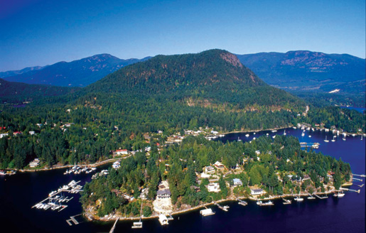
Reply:
[[0, 72], [212, 48], [365, 58], [365, 21], [365, 0], [0, 0]]

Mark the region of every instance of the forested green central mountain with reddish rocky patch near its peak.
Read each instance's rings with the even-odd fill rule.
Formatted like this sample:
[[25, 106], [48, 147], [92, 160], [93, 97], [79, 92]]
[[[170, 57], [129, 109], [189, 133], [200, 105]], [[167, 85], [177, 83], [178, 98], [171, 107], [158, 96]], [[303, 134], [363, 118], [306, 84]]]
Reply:
[[157, 55], [124, 67], [83, 90], [133, 96], [167, 95], [189, 101], [228, 102], [238, 108], [271, 106], [280, 109], [296, 97], [267, 85], [238, 58], [225, 50], [198, 54]]

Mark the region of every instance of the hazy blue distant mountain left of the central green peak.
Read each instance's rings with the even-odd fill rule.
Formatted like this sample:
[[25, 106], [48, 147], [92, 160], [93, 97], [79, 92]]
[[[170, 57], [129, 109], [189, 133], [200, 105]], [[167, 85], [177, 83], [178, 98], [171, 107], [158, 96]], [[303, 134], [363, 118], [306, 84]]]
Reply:
[[19, 75], [4, 77], [10, 82], [25, 82], [28, 84], [53, 85], [61, 87], [85, 87], [100, 80], [115, 70], [126, 65], [149, 59], [119, 59], [109, 54], [94, 55], [70, 63], [60, 62], [43, 67], [41, 70], [23, 72]]

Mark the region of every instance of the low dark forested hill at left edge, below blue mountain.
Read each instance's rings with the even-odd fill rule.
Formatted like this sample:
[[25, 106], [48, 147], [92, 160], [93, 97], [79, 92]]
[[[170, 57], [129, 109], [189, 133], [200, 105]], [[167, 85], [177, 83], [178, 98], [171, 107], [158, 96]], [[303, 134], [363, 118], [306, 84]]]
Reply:
[[41, 97], [55, 97], [77, 92], [77, 90], [80, 90], [80, 88], [28, 85], [21, 82], [8, 82], [0, 78], [0, 103], [32, 102]]

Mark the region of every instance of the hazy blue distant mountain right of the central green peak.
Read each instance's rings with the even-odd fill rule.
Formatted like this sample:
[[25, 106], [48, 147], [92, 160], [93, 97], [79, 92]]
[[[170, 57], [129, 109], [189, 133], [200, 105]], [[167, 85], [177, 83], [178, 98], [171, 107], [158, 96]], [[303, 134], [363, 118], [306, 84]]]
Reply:
[[298, 50], [237, 58], [264, 82], [284, 90], [365, 92], [365, 59], [352, 55]]

